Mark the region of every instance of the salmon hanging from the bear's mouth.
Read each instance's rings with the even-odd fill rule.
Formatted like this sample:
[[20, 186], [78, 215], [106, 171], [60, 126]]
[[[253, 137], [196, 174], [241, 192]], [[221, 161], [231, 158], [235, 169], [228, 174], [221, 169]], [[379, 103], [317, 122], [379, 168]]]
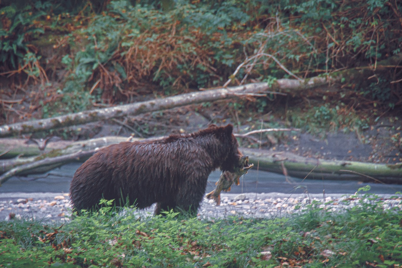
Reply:
[[254, 164], [248, 163], [248, 156], [244, 155], [240, 158], [238, 166], [234, 168], [234, 172], [225, 171], [219, 177], [219, 180], [215, 183], [216, 188], [212, 192], [208, 193], [205, 197], [208, 199], [215, 200], [216, 204], [219, 206], [221, 204], [221, 192], [230, 191], [230, 187], [232, 187], [233, 183], [236, 185], [240, 184], [240, 177], [247, 173], [249, 169], [251, 169]]

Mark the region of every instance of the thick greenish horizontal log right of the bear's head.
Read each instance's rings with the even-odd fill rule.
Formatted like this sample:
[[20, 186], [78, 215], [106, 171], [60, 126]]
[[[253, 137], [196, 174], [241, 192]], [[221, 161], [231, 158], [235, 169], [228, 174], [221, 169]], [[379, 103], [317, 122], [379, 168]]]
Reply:
[[388, 165], [301, 157], [289, 152], [241, 148], [261, 170], [308, 179], [402, 183], [402, 163]]

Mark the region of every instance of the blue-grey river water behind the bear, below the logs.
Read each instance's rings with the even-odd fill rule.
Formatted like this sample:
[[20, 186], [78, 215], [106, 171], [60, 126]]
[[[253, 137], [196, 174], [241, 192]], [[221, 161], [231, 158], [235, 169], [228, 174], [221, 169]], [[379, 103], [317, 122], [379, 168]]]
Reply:
[[[9, 196], [6, 193], [68, 193], [70, 182], [76, 169], [81, 163], [70, 163], [53, 169], [42, 175], [29, 175], [27, 177], [12, 177], [0, 187], [0, 198]], [[215, 188], [220, 171], [214, 171], [208, 178], [206, 192]], [[395, 194], [402, 192], [402, 185], [361, 183], [359, 181], [330, 181], [316, 179], [298, 179], [277, 173], [257, 171], [255, 168], [240, 178], [240, 186], [233, 186], [230, 193], [282, 193], [282, 194], [353, 194], [359, 188], [369, 185], [373, 194]]]

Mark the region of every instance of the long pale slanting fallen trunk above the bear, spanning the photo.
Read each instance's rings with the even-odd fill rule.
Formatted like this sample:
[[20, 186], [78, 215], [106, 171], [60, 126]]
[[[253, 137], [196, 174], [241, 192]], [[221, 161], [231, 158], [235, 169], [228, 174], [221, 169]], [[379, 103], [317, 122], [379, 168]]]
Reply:
[[[381, 72], [389, 66], [398, 66], [402, 61], [402, 54], [396, 54], [392, 57], [382, 60], [375, 67], [357, 67], [333, 72], [325, 76], [316, 76], [306, 79], [278, 79], [274, 82], [258, 82], [237, 87], [222, 87], [204, 91], [197, 91], [166, 97], [162, 99], [153, 99], [150, 101], [141, 101], [125, 105], [116, 105], [103, 109], [92, 109], [79, 113], [71, 113], [53, 118], [32, 120], [29, 122], [18, 122], [15, 124], [0, 126], [0, 138], [24, 133], [33, 133], [42, 130], [64, 128], [68, 126], [86, 124], [89, 122], [108, 120], [111, 118], [123, 117], [126, 115], [140, 115], [143, 113], [162, 111], [184, 105], [203, 103], [208, 101], [217, 101], [229, 98], [238, 98], [254, 94], [290, 94], [303, 95], [308, 97], [317, 92], [326, 93], [328, 91], [342, 90], [342, 87], [334, 87], [334, 84], [341, 81], [363, 81], [373, 76], [373, 72]], [[325, 87], [324, 87], [325, 86]], [[317, 89], [317, 90], [308, 90]]]

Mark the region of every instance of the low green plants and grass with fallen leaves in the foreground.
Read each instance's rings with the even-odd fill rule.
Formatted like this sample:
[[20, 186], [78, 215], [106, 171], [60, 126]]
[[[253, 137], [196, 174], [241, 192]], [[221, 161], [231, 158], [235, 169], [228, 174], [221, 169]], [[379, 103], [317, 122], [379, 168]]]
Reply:
[[343, 212], [313, 202], [275, 219], [105, 210], [64, 224], [2, 221], [0, 267], [399, 267], [401, 208], [361, 197]]

